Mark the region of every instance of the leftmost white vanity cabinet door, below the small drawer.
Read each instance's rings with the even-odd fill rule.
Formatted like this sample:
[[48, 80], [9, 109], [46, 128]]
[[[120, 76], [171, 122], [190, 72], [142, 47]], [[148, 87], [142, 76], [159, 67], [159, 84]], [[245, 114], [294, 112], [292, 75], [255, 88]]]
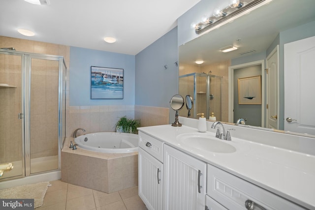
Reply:
[[163, 164], [139, 148], [139, 196], [148, 210], [162, 210]]

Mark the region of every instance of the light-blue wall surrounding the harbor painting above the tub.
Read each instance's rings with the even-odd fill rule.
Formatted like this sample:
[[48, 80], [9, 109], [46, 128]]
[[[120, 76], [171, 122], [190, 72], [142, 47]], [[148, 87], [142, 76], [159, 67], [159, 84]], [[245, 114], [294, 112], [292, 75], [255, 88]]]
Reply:
[[[91, 66], [124, 69], [124, 99], [91, 99]], [[135, 56], [70, 47], [70, 106], [134, 105]]]

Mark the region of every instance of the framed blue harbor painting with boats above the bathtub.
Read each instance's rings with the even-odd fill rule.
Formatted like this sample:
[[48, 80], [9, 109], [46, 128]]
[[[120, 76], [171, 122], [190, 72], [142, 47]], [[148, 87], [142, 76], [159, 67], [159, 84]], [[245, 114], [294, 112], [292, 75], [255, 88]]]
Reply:
[[124, 69], [91, 66], [91, 99], [124, 98]]

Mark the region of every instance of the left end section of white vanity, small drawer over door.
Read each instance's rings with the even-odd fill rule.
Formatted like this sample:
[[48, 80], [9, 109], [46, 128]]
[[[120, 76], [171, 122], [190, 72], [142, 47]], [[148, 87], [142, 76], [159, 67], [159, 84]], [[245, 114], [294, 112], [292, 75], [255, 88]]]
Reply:
[[148, 210], [162, 210], [163, 144], [139, 132], [138, 190]]

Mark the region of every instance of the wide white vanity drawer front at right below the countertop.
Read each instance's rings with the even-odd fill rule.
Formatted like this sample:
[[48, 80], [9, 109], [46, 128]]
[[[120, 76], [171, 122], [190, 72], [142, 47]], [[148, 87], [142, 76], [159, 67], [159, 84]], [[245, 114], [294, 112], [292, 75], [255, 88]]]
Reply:
[[282, 197], [209, 164], [207, 194], [230, 210], [246, 210], [246, 202], [254, 202], [266, 210], [303, 210]]

